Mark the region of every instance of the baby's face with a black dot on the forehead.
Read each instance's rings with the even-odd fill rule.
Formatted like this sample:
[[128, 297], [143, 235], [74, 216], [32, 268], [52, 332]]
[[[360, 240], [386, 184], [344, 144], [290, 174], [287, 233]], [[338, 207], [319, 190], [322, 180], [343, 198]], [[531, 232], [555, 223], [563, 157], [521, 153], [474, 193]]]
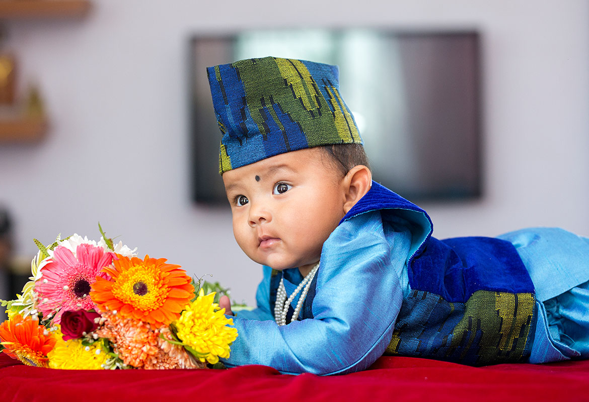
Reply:
[[301, 272], [345, 215], [345, 191], [322, 150], [287, 152], [223, 173], [233, 233], [257, 263]]

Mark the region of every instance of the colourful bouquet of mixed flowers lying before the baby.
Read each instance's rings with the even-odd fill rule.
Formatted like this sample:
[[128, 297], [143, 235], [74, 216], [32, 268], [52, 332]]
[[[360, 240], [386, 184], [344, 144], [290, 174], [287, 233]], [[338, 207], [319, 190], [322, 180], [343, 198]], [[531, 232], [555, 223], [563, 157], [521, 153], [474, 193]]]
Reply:
[[180, 266], [137, 257], [100, 225], [98, 242], [38, 240], [30, 282], [2, 301], [2, 351], [63, 369], [205, 368], [229, 357], [237, 330]]

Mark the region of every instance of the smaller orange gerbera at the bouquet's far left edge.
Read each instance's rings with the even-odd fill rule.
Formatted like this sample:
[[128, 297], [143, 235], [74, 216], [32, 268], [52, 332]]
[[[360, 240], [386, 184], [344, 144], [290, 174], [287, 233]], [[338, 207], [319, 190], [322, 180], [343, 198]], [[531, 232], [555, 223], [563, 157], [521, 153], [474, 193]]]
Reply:
[[55, 337], [48, 333], [39, 321], [21, 314], [0, 324], [0, 341], [6, 348], [2, 351], [28, 366], [49, 367], [47, 353], [55, 346]]

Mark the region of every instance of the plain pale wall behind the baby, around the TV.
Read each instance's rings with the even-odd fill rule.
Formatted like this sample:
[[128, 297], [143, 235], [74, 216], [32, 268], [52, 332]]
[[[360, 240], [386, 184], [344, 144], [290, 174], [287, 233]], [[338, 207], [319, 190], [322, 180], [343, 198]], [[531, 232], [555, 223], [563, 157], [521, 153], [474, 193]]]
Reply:
[[[253, 303], [260, 278], [229, 210], [190, 202], [188, 39], [279, 26], [476, 28], [484, 68], [483, 199], [423, 205], [438, 237], [562, 226], [589, 235], [589, 2], [93, 0], [80, 21], [6, 23], [21, 86], [37, 82], [51, 129], [0, 145], [0, 205], [16, 252], [57, 233], [121, 235], [140, 253], [213, 273]], [[337, 6], [336, 6], [337, 4]]]

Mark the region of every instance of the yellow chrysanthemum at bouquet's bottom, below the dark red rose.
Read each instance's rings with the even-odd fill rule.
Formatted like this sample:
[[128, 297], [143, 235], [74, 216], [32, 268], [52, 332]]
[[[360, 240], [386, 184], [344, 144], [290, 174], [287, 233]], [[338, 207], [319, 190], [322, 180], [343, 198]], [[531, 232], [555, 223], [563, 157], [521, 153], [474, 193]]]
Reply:
[[63, 370], [102, 370], [108, 359], [108, 353], [103, 349], [101, 342], [90, 346], [82, 345], [81, 339], [64, 341], [61, 331], [54, 331], [57, 342], [47, 357], [49, 368], [61, 368]]

